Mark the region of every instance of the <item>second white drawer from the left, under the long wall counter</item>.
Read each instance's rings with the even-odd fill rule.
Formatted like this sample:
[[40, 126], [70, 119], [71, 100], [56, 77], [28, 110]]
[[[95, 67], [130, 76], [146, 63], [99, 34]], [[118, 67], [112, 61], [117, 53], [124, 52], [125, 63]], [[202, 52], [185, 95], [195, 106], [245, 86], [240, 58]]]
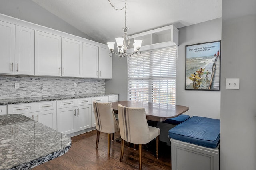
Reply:
[[22, 114], [35, 112], [35, 103], [24, 103], [18, 105], [8, 105], [8, 114]]

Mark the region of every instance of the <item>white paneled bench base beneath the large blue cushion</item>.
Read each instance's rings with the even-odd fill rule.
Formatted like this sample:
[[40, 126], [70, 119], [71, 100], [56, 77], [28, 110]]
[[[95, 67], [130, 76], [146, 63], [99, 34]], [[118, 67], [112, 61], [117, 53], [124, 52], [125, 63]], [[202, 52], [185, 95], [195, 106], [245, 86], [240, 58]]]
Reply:
[[212, 149], [172, 138], [170, 141], [172, 170], [219, 170], [220, 144]]

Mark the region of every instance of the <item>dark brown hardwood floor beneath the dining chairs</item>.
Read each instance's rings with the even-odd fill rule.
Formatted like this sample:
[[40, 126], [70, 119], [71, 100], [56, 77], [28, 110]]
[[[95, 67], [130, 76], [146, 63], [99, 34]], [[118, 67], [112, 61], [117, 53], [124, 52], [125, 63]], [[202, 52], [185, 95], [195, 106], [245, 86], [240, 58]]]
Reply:
[[[107, 134], [100, 133], [98, 150], [95, 149], [96, 130], [71, 138], [70, 150], [44, 164], [36, 166], [33, 170], [134, 170], [139, 168], [139, 150], [133, 147], [124, 148], [123, 162], [119, 162], [119, 142], [111, 142], [110, 156], [107, 155]], [[116, 133], [115, 138], [120, 137]], [[160, 142], [159, 159], [156, 159], [155, 141], [144, 145], [142, 150], [142, 169], [144, 170], [170, 170], [171, 150], [166, 143]]]

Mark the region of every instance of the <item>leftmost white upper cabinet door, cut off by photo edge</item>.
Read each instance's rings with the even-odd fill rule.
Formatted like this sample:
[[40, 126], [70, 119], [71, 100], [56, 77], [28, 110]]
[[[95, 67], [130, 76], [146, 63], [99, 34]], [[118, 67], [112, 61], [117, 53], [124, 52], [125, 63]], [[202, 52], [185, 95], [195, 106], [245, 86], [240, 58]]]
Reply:
[[0, 21], [0, 73], [15, 73], [15, 25]]

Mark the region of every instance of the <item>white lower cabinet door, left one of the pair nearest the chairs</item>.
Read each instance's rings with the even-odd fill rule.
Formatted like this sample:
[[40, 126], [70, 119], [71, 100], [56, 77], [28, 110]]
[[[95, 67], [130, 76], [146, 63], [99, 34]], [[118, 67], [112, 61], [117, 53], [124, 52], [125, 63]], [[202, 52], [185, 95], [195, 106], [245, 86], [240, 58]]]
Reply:
[[76, 107], [57, 109], [57, 130], [63, 134], [76, 132]]

